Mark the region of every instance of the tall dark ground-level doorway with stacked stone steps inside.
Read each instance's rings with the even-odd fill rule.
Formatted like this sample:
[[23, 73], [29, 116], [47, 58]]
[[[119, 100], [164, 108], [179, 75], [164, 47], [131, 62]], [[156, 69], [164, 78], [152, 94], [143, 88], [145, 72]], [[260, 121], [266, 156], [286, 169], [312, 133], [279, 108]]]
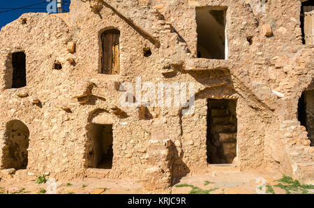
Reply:
[[232, 163], [237, 156], [237, 103], [207, 100], [207, 163]]

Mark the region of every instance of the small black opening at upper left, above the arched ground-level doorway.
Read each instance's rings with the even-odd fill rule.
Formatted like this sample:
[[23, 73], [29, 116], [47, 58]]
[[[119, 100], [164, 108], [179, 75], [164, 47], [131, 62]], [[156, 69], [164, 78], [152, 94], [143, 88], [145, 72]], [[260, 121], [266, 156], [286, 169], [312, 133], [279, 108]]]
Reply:
[[24, 52], [15, 52], [12, 54], [12, 88], [25, 87], [27, 85], [26, 78], [26, 55]]

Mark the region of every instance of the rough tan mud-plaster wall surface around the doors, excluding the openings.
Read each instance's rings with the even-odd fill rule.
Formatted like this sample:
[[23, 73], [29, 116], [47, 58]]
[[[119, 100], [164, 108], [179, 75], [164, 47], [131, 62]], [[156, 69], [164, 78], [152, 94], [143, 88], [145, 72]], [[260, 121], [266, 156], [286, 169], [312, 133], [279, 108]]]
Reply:
[[[140, 177], [147, 188], [166, 188], [206, 170], [207, 98], [226, 98], [237, 100], [234, 165], [313, 178], [313, 147], [297, 121], [314, 58], [313, 47], [301, 43], [301, 3], [267, 1], [264, 12], [256, 3], [73, 0], [70, 13], [22, 15], [0, 32], [0, 140], [8, 121], [27, 125], [29, 163], [22, 171], [29, 176]], [[227, 8], [227, 60], [196, 59], [200, 6]], [[264, 24], [272, 36], [264, 36]], [[121, 73], [103, 75], [99, 37], [112, 28], [121, 33]], [[73, 52], [67, 50], [71, 43]], [[150, 57], [142, 53], [147, 47]], [[27, 56], [27, 87], [8, 89], [10, 55], [18, 51]], [[56, 61], [61, 70], [54, 70]], [[179, 107], [147, 107], [151, 116], [142, 119], [140, 107], [121, 107], [120, 84], [134, 87], [135, 77], [195, 82], [195, 112], [182, 116]], [[112, 124], [110, 170], [88, 168], [91, 123]]]

